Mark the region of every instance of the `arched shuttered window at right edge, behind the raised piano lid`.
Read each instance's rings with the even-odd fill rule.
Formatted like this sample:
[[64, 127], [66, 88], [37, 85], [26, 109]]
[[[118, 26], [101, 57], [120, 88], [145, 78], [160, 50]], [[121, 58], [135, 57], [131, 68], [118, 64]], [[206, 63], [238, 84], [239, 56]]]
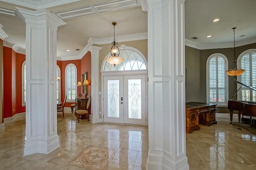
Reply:
[[[238, 76], [238, 81], [256, 88], [256, 49], [249, 49], [241, 53], [238, 57], [238, 68], [245, 72]], [[238, 84], [238, 88], [240, 88]], [[238, 91], [238, 100], [256, 102], [256, 91], [242, 86]]]

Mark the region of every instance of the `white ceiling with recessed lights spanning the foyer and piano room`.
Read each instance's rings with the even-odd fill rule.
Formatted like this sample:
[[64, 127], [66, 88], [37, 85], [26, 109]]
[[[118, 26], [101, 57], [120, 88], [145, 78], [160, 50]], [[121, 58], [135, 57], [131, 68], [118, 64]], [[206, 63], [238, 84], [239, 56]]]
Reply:
[[[67, 2], [71, 3], [65, 4]], [[117, 23], [117, 42], [127, 35], [144, 35], [140, 38], [145, 38], [145, 2], [146, 0], [0, 0], [0, 29], [8, 35], [4, 39], [4, 45], [11, 44], [16, 50], [22, 51], [26, 48], [26, 24], [16, 16], [15, 7], [29, 10], [47, 8], [67, 23], [58, 27], [57, 56], [70, 59], [81, 55], [90, 38], [111, 42], [113, 21]], [[236, 46], [256, 43], [255, 6], [256, 0], [186, 0], [186, 45], [198, 49], [233, 47], [232, 27], [237, 27]], [[213, 22], [215, 18], [220, 18], [220, 21]], [[212, 37], [207, 38], [207, 35]], [[240, 37], [241, 35], [244, 36]]]

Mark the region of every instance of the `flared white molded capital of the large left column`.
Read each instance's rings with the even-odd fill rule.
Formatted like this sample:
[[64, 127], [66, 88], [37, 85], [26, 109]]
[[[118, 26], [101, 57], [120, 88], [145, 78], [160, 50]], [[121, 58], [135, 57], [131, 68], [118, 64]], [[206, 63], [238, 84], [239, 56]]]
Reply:
[[[55, 14], [51, 13], [46, 9], [37, 10], [37, 11], [30, 11], [23, 8], [18, 8], [18, 16], [22, 18], [26, 23], [30, 24], [38, 24], [38, 23], [50, 23], [51, 25], [58, 27], [60, 25], [65, 25], [64, 22], [60, 17], [56, 16]], [[47, 20], [46, 20], [47, 19]]]

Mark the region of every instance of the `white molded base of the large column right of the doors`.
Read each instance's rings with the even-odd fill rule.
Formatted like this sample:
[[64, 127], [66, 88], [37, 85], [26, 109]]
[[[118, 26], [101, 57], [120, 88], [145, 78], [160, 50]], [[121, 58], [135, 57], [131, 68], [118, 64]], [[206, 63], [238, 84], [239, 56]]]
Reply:
[[148, 154], [147, 170], [189, 170], [188, 158], [175, 163], [162, 155]]

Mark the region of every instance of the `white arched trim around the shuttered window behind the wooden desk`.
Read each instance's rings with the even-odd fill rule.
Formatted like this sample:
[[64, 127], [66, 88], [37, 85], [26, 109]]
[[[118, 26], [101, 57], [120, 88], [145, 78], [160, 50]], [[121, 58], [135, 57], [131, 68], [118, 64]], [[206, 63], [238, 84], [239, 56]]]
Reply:
[[225, 74], [225, 102], [210, 102], [210, 76], [209, 76], [209, 63], [210, 60], [215, 57], [216, 55], [223, 57], [225, 60], [225, 70], [228, 70], [228, 59], [225, 55], [221, 53], [214, 53], [210, 55], [206, 61], [206, 102], [207, 103], [214, 103], [217, 104], [218, 106], [228, 106], [228, 74]]

